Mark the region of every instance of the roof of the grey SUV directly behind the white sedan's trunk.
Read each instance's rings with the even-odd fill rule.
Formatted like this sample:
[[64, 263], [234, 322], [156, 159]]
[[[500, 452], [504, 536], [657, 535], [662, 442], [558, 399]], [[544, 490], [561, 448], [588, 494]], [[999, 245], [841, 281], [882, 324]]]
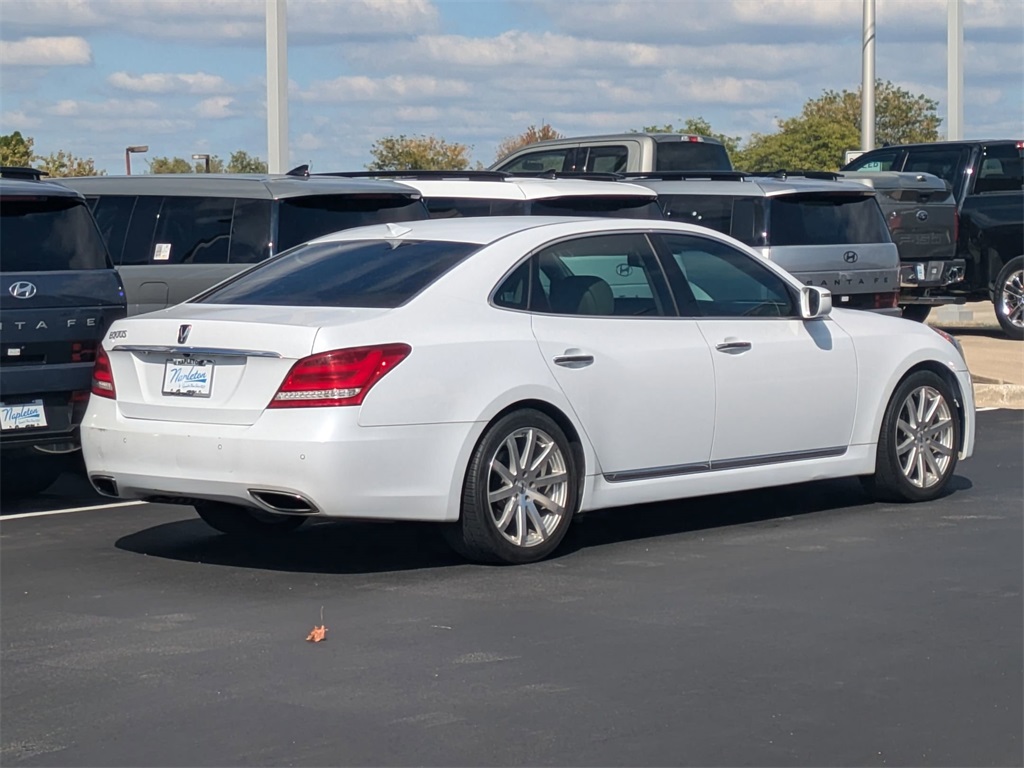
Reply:
[[378, 179], [289, 176], [275, 173], [147, 173], [63, 179], [84, 195], [166, 195], [282, 200], [310, 195], [408, 195], [409, 186]]

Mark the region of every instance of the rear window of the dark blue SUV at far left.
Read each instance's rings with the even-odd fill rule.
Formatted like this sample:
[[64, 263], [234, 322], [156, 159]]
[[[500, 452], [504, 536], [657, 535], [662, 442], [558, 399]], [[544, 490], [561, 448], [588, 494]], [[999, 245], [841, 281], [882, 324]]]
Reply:
[[12, 197], [0, 205], [0, 268], [50, 272], [109, 269], [111, 263], [84, 201]]

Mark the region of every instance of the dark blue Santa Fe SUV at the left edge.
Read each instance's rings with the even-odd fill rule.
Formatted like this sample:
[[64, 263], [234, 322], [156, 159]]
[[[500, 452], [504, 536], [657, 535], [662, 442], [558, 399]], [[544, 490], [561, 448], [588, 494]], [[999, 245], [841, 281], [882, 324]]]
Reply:
[[0, 169], [0, 493], [45, 489], [79, 450], [96, 347], [125, 315], [85, 199]]

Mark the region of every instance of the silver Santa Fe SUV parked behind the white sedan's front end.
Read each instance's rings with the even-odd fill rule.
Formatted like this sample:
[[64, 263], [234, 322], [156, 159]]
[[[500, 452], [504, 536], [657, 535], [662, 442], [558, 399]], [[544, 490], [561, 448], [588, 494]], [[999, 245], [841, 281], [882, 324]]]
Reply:
[[667, 218], [735, 238], [836, 306], [899, 315], [899, 254], [872, 188], [825, 173], [628, 177], [657, 193]]

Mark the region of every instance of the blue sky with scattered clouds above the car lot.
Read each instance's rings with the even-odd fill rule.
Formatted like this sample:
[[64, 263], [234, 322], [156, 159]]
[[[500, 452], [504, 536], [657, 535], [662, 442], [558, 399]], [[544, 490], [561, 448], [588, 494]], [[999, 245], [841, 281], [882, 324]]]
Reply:
[[[531, 124], [703, 117], [770, 132], [860, 83], [861, 0], [288, 0], [289, 151], [360, 169], [388, 135], [484, 165]], [[123, 173], [136, 156], [267, 157], [264, 0], [0, 0], [0, 133]], [[939, 101], [946, 0], [877, 0], [877, 74]], [[1024, 3], [965, 0], [965, 133], [1024, 137]], [[853, 148], [853, 147], [851, 147]]]

